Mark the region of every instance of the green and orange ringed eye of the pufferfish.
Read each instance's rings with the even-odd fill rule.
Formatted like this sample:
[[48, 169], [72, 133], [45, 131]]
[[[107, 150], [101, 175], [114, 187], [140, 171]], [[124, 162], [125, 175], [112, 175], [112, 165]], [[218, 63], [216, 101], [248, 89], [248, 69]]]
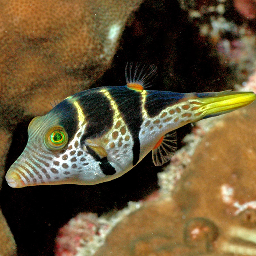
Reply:
[[50, 150], [60, 150], [68, 143], [68, 134], [62, 126], [51, 127], [44, 135], [44, 145]]

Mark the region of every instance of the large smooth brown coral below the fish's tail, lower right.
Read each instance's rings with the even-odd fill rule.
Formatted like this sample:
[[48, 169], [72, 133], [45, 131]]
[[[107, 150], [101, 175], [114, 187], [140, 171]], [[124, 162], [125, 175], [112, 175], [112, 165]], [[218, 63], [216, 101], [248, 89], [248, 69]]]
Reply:
[[124, 218], [95, 255], [256, 255], [255, 107], [220, 119], [173, 199], [145, 203]]

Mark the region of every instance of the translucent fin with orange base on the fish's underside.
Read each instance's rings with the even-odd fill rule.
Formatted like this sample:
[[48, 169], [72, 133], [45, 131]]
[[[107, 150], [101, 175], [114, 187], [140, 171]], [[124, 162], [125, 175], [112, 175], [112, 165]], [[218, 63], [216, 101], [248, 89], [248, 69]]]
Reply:
[[177, 149], [176, 131], [166, 133], [152, 149], [152, 159], [156, 166], [168, 162]]

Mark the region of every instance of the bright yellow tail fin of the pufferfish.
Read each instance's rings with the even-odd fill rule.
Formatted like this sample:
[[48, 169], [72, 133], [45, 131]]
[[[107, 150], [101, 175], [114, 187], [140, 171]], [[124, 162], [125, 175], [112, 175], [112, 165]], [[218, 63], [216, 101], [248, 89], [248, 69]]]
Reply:
[[251, 104], [256, 95], [253, 92], [206, 92], [195, 93], [196, 98], [189, 100], [194, 105], [194, 116], [198, 119], [219, 116]]

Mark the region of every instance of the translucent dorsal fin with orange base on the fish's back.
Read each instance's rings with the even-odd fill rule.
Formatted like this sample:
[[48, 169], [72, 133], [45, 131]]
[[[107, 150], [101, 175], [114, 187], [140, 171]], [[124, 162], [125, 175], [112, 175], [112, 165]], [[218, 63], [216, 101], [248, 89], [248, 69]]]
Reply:
[[125, 67], [127, 87], [135, 91], [149, 87], [156, 75], [156, 69], [155, 65], [127, 62]]

